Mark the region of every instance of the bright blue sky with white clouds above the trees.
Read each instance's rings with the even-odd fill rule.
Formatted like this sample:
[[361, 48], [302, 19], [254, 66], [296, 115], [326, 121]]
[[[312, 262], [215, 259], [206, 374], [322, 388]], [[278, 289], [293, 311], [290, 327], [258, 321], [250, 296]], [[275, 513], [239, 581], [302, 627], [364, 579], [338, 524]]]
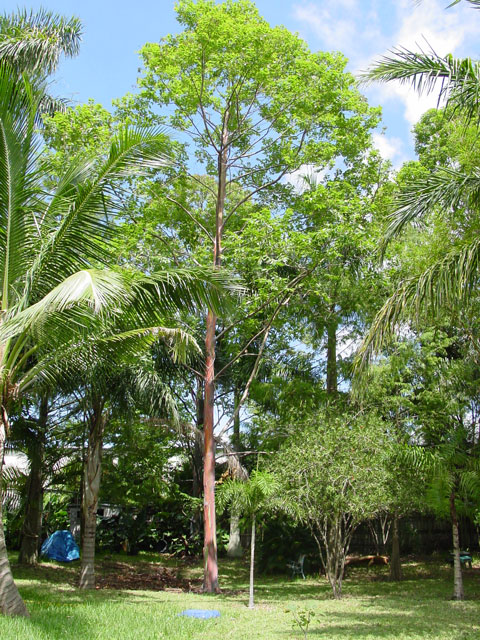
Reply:
[[[445, 9], [448, 0], [257, 0], [271, 24], [298, 32], [312, 50], [338, 50], [349, 59], [352, 72], [394, 46], [427, 47], [438, 54], [477, 56], [480, 11], [466, 2]], [[3, 0], [4, 11], [18, 6], [77, 15], [84, 25], [80, 55], [64, 61], [56, 75], [57, 95], [74, 103], [88, 98], [104, 104], [135, 90], [138, 50], [178, 30], [173, 0]], [[381, 105], [386, 132], [376, 135], [382, 154], [398, 166], [413, 157], [410, 130], [434, 96], [418, 99], [411, 89], [377, 85], [364, 90], [372, 105]]]

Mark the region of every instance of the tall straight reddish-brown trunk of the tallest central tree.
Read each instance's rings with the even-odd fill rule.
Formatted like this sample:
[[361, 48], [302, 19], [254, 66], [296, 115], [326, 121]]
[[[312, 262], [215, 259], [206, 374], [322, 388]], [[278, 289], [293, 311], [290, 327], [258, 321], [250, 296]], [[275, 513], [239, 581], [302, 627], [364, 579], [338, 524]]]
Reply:
[[[222, 235], [227, 188], [228, 160], [228, 110], [224, 114], [222, 142], [218, 155], [218, 192], [215, 211], [215, 244], [213, 264], [219, 269], [222, 264]], [[212, 311], [207, 313], [205, 337], [205, 404], [204, 404], [204, 459], [203, 459], [203, 526], [204, 526], [204, 574], [203, 589], [208, 593], [218, 591], [217, 529], [215, 517], [215, 438], [213, 435], [215, 402], [215, 330], [217, 317]]]

